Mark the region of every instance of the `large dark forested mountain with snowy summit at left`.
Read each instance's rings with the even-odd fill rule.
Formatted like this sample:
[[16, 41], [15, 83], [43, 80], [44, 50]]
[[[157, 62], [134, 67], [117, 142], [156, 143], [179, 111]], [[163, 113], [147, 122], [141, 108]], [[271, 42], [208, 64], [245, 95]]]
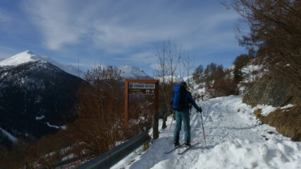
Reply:
[[68, 120], [83, 82], [68, 68], [30, 51], [0, 62], [0, 144], [54, 133]]

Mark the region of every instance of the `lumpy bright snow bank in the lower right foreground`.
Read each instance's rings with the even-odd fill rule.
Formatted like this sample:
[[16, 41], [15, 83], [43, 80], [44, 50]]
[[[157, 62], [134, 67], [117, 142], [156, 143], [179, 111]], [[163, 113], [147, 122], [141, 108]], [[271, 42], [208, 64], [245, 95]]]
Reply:
[[199, 155], [192, 168], [296, 168], [301, 166], [300, 158], [300, 147], [294, 142], [235, 139], [215, 146], [208, 154]]

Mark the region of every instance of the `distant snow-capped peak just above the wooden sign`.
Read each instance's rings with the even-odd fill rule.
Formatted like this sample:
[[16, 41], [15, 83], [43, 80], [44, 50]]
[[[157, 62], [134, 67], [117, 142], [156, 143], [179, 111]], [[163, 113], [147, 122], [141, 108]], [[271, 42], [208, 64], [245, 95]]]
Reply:
[[124, 79], [152, 79], [144, 70], [132, 65], [123, 64], [118, 69], [121, 70], [121, 77]]

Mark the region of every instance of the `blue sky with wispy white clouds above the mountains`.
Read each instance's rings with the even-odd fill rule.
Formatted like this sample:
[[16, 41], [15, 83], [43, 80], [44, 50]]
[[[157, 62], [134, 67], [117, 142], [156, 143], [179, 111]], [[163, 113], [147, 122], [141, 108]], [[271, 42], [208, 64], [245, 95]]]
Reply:
[[239, 16], [219, 0], [3, 0], [0, 60], [25, 50], [86, 71], [123, 63], [153, 75], [156, 49], [171, 39], [193, 60], [231, 67]]

